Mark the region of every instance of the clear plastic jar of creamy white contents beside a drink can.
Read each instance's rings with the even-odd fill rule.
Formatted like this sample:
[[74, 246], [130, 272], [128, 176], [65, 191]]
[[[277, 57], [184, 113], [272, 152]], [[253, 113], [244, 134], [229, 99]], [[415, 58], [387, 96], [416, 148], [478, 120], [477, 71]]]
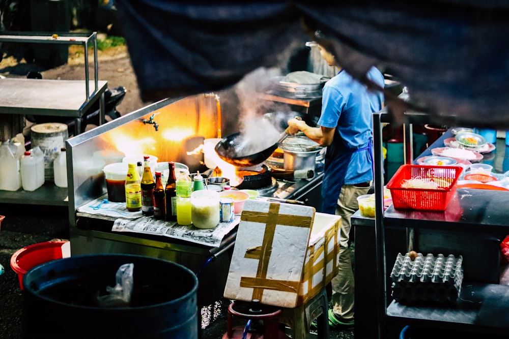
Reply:
[[191, 220], [197, 228], [214, 228], [219, 223], [219, 193], [208, 190], [191, 193]]

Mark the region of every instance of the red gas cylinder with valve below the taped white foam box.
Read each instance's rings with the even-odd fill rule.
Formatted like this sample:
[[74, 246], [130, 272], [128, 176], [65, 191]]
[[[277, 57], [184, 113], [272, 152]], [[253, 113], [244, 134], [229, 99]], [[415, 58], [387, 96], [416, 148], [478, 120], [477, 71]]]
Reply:
[[233, 328], [233, 316], [263, 322], [263, 333], [249, 332], [246, 339], [288, 339], [288, 336], [279, 330], [281, 312], [281, 309], [263, 305], [259, 300], [234, 301], [228, 306], [228, 331], [222, 336], [222, 339], [242, 338], [244, 327]]

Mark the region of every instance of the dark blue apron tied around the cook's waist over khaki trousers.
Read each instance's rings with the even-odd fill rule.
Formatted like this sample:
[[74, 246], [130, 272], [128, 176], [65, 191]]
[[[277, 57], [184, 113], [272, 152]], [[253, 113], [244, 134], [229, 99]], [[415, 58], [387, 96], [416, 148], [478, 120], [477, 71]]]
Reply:
[[335, 214], [337, 199], [340, 196], [341, 187], [345, 183], [348, 165], [350, 164], [353, 153], [369, 149], [370, 151], [368, 153], [371, 159], [372, 168], [375, 162], [373, 159], [373, 141], [371, 139], [367, 143], [367, 146], [358, 149], [352, 149], [343, 143], [340, 144], [340, 147], [329, 147], [327, 147], [324, 176], [322, 180], [321, 212]]

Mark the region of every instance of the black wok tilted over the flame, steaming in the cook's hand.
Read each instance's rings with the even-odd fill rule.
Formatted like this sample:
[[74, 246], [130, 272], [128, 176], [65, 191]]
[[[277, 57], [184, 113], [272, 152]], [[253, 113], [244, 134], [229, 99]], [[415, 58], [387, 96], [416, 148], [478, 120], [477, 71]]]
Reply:
[[[237, 167], [251, 167], [267, 160], [276, 150], [279, 142], [284, 140], [287, 136], [288, 134], [286, 132], [282, 132], [276, 143], [268, 148], [258, 150], [256, 149], [256, 145], [260, 144], [260, 141], [247, 140], [245, 135], [239, 132], [221, 139], [216, 144], [214, 150], [219, 158], [229, 164]], [[251, 146], [254, 145], [255, 147], [246, 148], [248, 144]], [[248, 151], [248, 149], [256, 149], [256, 151]]]

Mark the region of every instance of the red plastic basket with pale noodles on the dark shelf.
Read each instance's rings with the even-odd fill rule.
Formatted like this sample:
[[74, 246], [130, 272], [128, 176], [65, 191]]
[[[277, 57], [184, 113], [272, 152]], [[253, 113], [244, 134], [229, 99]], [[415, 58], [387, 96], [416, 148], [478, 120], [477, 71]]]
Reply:
[[[402, 165], [387, 183], [394, 208], [444, 211], [456, 192], [460, 166]], [[409, 189], [404, 180], [422, 178], [438, 184], [437, 189]]]

